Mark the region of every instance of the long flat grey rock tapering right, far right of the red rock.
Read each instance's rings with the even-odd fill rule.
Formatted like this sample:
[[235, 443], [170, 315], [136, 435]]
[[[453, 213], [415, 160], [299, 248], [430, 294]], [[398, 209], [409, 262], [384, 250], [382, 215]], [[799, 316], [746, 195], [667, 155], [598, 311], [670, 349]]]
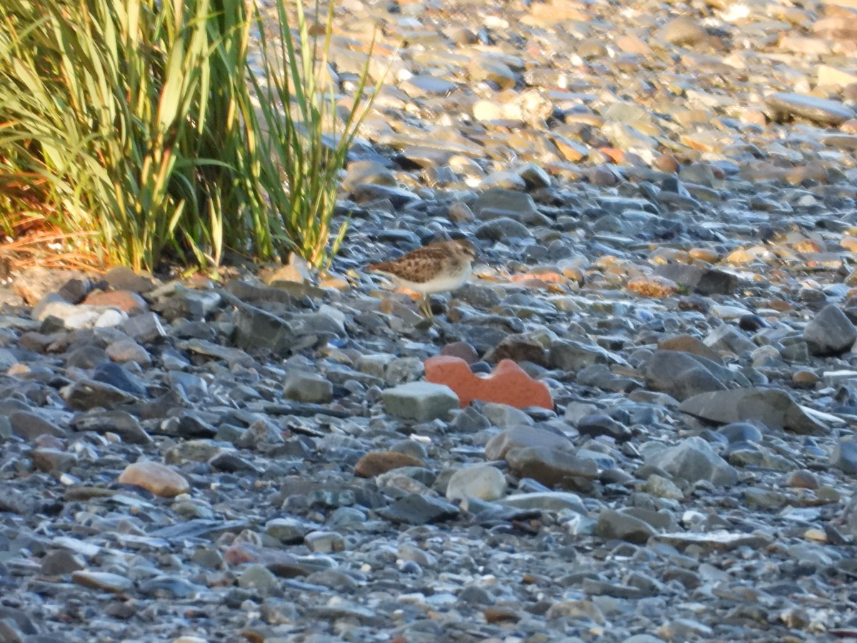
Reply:
[[769, 427], [780, 427], [800, 434], [822, 434], [824, 424], [812, 419], [776, 388], [740, 388], [694, 395], [681, 403], [682, 412], [709, 422], [731, 424], [758, 420]]

